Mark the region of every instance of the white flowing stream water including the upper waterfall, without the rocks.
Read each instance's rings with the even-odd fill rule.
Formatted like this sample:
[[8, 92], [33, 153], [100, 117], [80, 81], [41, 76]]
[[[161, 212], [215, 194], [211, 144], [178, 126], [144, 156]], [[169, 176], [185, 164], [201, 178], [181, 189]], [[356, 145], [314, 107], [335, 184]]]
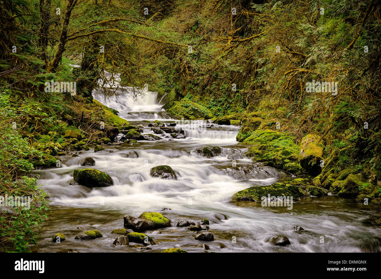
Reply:
[[[125, 88], [131, 93], [133, 88]], [[146, 97], [136, 101], [125, 91], [104, 100], [95, 91], [95, 99], [118, 110], [132, 125], [144, 126], [142, 120], [163, 120], [173, 123], [161, 108], [155, 92], [144, 92]], [[376, 208], [365, 206], [337, 196], [310, 197], [287, 207], [261, 207], [260, 203], [231, 201], [240, 190], [256, 185], [269, 185], [291, 179], [283, 172], [253, 163], [242, 153], [246, 147], [236, 142], [238, 126], [218, 126], [185, 129], [186, 139], [139, 141], [130, 145], [121, 143], [106, 147], [104, 153], [82, 151], [78, 157], [61, 156], [61, 167], [39, 172], [38, 182], [50, 195], [51, 210], [42, 237], [34, 246], [36, 252], [56, 252], [63, 248], [79, 252], [160, 252], [179, 247], [188, 252], [204, 252], [199, 244], [205, 243], [215, 252], [380, 252], [381, 229], [371, 226], [368, 218]], [[197, 155], [196, 148], [219, 146], [219, 156], [205, 158]], [[69, 185], [74, 169], [85, 157], [96, 161], [94, 168], [106, 172], [114, 185], [87, 188]], [[150, 177], [154, 166], [171, 166], [178, 180]], [[152, 250], [114, 246], [117, 237], [110, 231], [123, 228], [123, 215], [138, 217], [144, 211], [162, 213], [172, 226], [160, 229], [161, 234], [146, 234], [157, 245]], [[197, 234], [175, 227], [179, 220], [197, 223], [202, 218], [210, 221], [210, 232], [215, 240], [197, 241]], [[295, 232], [293, 226], [306, 231]], [[94, 240], [75, 240], [81, 230], [96, 229], [103, 234]], [[55, 233], [64, 233], [66, 241], [53, 243]], [[274, 246], [266, 242], [274, 235], [284, 235], [291, 245]]]

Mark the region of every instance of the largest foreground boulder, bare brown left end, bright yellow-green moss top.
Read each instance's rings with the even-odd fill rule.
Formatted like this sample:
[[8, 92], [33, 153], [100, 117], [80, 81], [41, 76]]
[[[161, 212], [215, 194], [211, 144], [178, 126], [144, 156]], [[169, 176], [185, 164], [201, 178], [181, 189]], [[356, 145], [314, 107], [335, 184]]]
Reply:
[[156, 230], [171, 226], [171, 221], [157, 212], [143, 212], [138, 218], [125, 215], [123, 220], [125, 228], [136, 232]]

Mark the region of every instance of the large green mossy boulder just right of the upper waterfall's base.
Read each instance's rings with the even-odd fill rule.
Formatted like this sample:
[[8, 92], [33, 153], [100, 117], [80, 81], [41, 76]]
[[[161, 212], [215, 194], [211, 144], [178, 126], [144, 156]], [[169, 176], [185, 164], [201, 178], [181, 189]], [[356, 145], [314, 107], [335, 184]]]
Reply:
[[176, 116], [177, 118], [184, 117], [185, 119], [195, 120], [198, 118], [210, 119], [213, 118], [213, 113], [208, 108], [197, 104], [187, 98], [183, 98], [179, 102], [174, 102], [167, 112]]

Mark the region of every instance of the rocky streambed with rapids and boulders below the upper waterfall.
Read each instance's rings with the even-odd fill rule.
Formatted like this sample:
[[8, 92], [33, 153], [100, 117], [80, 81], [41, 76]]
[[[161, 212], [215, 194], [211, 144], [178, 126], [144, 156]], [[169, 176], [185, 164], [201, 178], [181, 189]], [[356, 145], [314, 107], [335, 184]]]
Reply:
[[[251, 161], [239, 126], [178, 137], [173, 120], [161, 122], [134, 121], [117, 143], [73, 150], [40, 171], [52, 202], [35, 251], [379, 251], [376, 207]], [[292, 209], [263, 207], [264, 193], [293, 196]]]

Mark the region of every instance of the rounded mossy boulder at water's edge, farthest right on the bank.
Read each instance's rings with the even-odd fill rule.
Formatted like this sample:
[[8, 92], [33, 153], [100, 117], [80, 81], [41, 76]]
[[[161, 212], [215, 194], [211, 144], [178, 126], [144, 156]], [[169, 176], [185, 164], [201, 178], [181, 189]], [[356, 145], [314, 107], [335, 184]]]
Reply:
[[363, 182], [359, 175], [350, 174], [345, 180], [336, 180], [331, 184], [330, 191], [343, 197], [357, 197], [360, 190], [369, 183]]

